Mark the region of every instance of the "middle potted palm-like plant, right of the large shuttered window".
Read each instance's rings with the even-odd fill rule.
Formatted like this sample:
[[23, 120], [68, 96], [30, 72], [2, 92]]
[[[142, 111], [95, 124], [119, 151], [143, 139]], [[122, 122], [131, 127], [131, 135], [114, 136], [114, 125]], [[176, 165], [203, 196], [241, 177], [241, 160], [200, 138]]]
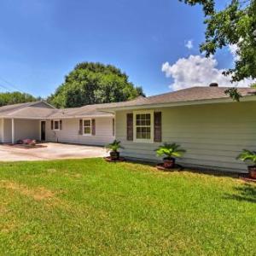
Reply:
[[164, 143], [159, 148], [156, 149], [156, 154], [158, 156], [165, 155], [163, 159], [165, 168], [173, 168], [175, 166], [175, 158], [182, 157], [186, 150], [180, 148], [180, 145], [176, 143]]

